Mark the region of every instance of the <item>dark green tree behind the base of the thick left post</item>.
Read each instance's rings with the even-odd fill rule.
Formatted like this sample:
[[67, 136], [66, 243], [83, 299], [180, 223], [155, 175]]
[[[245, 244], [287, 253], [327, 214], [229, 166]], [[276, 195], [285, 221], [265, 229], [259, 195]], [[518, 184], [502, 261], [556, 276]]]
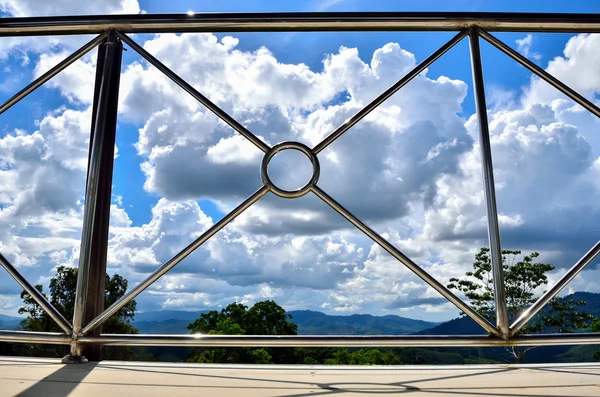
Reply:
[[[50, 303], [66, 318], [73, 318], [75, 305], [75, 289], [77, 286], [77, 269], [59, 266], [56, 275], [50, 280]], [[36, 285], [35, 288], [42, 292], [43, 287]], [[110, 277], [106, 275], [104, 306], [108, 307], [122, 297], [127, 291], [127, 280], [118, 274]], [[44, 296], [46, 296], [44, 294]], [[47, 296], [46, 296], [47, 298]], [[23, 306], [19, 308], [19, 314], [27, 317], [21, 321], [21, 327], [26, 331], [38, 332], [62, 332], [60, 327], [50, 316], [38, 305], [27, 292], [21, 292]], [[136, 302], [132, 300], [117, 313], [111, 316], [103, 325], [103, 333], [106, 334], [137, 334], [138, 330], [131, 325], [135, 316]], [[68, 352], [65, 346], [28, 346], [21, 354], [27, 355], [51, 355], [61, 356]], [[134, 350], [126, 347], [107, 346], [104, 348], [103, 357], [107, 360], [131, 360], [134, 358]]]

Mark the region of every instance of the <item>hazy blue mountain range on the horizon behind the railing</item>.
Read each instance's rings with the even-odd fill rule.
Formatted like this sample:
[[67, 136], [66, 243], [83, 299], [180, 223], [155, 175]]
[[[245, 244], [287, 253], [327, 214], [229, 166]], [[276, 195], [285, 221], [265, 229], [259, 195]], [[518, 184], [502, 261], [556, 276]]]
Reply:
[[[580, 310], [600, 317], [600, 294], [576, 292], [565, 299], [586, 301]], [[136, 313], [133, 325], [144, 334], [185, 334], [187, 326], [206, 311], [164, 310]], [[310, 310], [288, 312], [298, 325], [300, 335], [485, 335], [485, 332], [468, 317], [459, 317], [443, 323], [432, 323], [396, 315], [373, 316], [369, 314], [328, 315]], [[0, 314], [0, 329], [15, 329], [21, 318]], [[538, 347], [527, 354], [528, 363], [557, 363], [594, 361], [599, 346], [547, 346]], [[149, 347], [147, 352], [158, 361], [185, 361], [189, 355], [186, 347]], [[398, 350], [400, 351], [400, 350]], [[514, 362], [504, 348], [409, 348], [415, 362], [430, 364], [511, 363]], [[410, 352], [409, 352], [410, 351]], [[414, 361], [413, 360], [413, 361]], [[412, 362], [412, 361], [411, 361]]]

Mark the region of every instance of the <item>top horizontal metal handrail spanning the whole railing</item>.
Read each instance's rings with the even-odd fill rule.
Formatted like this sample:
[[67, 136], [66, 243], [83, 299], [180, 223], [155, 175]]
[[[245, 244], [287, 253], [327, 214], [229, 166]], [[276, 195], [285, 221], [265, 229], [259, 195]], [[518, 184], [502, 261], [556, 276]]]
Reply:
[[599, 33], [599, 14], [296, 12], [1, 18], [0, 36], [176, 32], [458, 31]]

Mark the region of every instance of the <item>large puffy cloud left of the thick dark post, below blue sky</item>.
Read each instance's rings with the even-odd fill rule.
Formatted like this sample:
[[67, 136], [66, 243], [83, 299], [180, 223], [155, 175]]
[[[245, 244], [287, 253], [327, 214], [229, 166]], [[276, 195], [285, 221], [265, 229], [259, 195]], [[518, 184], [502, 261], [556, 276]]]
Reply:
[[17, 264], [78, 241], [90, 117], [63, 109], [0, 138], [0, 245]]

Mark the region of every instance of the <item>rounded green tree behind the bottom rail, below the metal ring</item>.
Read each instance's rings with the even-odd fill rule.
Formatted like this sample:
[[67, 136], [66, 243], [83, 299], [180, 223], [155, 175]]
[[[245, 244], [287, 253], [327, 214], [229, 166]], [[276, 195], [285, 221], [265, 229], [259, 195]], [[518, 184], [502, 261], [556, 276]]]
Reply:
[[[211, 335], [296, 335], [292, 316], [274, 301], [257, 302], [251, 308], [232, 303], [220, 312], [202, 313], [188, 325], [192, 333]], [[188, 360], [196, 363], [291, 364], [297, 362], [292, 348], [194, 349]]]

